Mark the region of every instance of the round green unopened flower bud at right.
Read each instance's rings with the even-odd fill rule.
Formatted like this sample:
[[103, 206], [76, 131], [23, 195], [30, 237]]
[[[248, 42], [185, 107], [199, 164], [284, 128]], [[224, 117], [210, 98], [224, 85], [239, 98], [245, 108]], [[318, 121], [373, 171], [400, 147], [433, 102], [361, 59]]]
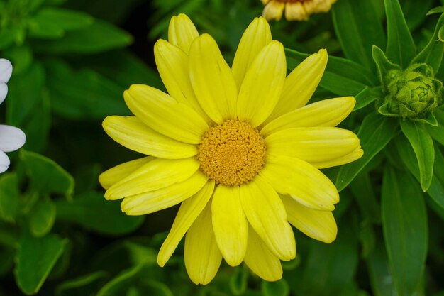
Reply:
[[379, 113], [410, 119], [425, 119], [442, 101], [443, 83], [426, 64], [412, 64], [402, 71], [392, 69], [384, 77], [386, 97]]

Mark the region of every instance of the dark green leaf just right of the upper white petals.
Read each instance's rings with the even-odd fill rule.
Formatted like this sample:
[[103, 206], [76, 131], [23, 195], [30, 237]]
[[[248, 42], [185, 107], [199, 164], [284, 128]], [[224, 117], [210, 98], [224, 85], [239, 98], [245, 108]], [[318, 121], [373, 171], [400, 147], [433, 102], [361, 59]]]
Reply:
[[8, 104], [6, 122], [12, 126], [21, 126], [40, 102], [45, 72], [40, 62], [33, 62], [26, 72], [13, 75], [8, 83]]

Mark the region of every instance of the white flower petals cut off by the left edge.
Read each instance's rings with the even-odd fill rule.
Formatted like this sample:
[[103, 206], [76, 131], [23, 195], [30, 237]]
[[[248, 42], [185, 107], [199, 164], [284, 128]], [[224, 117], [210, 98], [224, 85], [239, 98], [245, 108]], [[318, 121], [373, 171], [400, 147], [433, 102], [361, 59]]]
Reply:
[[[8, 81], [11, 78], [12, 65], [9, 60], [0, 58], [0, 104], [8, 94]], [[25, 144], [26, 136], [20, 128], [0, 124], [0, 172], [8, 170], [10, 161], [5, 152], [15, 151]]]

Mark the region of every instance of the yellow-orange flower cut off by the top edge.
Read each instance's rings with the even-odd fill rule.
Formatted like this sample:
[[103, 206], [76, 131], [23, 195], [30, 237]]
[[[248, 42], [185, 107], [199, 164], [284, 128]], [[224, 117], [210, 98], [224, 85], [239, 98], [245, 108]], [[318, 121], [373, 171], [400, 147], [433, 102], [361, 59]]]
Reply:
[[261, 0], [265, 5], [262, 16], [279, 21], [285, 11], [287, 21], [306, 21], [313, 13], [328, 12], [336, 0]]

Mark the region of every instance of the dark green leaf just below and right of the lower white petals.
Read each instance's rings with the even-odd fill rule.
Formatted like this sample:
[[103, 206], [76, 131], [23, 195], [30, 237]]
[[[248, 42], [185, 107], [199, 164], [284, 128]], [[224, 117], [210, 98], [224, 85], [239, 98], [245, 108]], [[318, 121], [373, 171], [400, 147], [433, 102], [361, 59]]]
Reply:
[[23, 149], [20, 150], [20, 158], [28, 170], [33, 190], [40, 194], [65, 194], [67, 197], [74, 191], [74, 179], [54, 160]]

